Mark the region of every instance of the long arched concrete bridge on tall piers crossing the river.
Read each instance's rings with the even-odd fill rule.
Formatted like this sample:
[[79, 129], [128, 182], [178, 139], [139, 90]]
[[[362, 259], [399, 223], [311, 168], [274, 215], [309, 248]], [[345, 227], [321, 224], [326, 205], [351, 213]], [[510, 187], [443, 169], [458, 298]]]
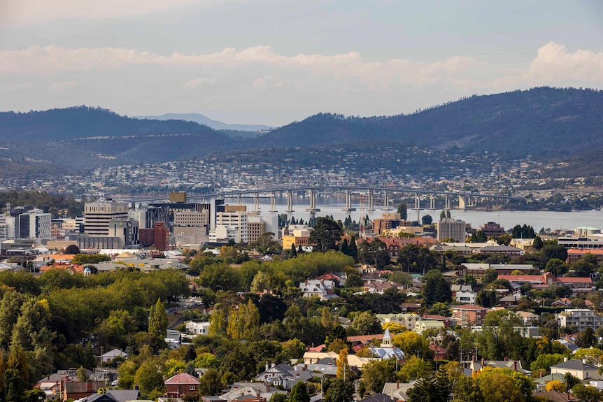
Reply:
[[[253, 196], [254, 199], [254, 211], [260, 210], [260, 196], [263, 194], [267, 194], [271, 197], [271, 208], [270, 212], [277, 212], [276, 209], [276, 194], [287, 194], [288, 204], [286, 212], [293, 212], [293, 194], [299, 192], [306, 192], [310, 196], [310, 208], [306, 208], [306, 211], [310, 213], [315, 213], [320, 211], [320, 209], [316, 208], [316, 194], [318, 192], [344, 192], [346, 194], [346, 206], [342, 208], [344, 211], [353, 211], [356, 210], [352, 206], [352, 193], [361, 192], [364, 193], [361, 195], [362, 202], [364, 200], [367, 201], [367, 210], [374, 211], [374, 196], [376, 193], [383, 193], [383, 208], [381, 210], [389, 211], [392, 210], [390, 208], [390, 194], [415, 194], [415, 208], [416, 210], [420, 210], [420, 202], [421, 198], [425, 198], [428, 196], [430, 201], [429, 209], [435, 209], [435, 196], [444, 196], [444, 209], [451, 209], [451, 199], [457, 198], [458, 200], [458, 208], [466, 209], [477, 206], [479, 202], [490, 201], [490, 200], [521, 200], [523, 197], [521, 196], [506, 196], [506, 195], [498, 195], [498, 194], [481, 194], [481, 193], [473, 193], [473, 192], [442, 192], [438, 190], [423, 190], [423, 189], [413, 189], [408, 187], [360, 187], [360, 186], [336, 186], [336, 185], [318, 185], [318, 186], [302, 186], [302, 187], [273, 187], [273, 188], [265, 188], [265, 189], [243, 189], [243, 190], [233, 190], [229, 192], [220, 192], [214, 194], [199, 194], [189, 196], [188, 199], [193, 200], [201, 200], [201, 199], [222, 199], [225, 197], [237, 197], [239, 199], [239, 204], [242, 203], [243, 196]], [[124, 202], [158, 202], [164, 201], [165, 197], [157, 198], [157, 199], [121, 199], [120, 201]]]

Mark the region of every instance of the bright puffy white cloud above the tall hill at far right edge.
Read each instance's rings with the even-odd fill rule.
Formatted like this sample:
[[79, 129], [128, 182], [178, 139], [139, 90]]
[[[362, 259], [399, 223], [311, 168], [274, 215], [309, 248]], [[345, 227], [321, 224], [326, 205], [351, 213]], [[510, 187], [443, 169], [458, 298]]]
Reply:
[[588, 50], [568, 52], [564, 45], [549, 42], [538, 50], [524, 76], [537, 85], [559, 81], [603, 82], [603, 52]]

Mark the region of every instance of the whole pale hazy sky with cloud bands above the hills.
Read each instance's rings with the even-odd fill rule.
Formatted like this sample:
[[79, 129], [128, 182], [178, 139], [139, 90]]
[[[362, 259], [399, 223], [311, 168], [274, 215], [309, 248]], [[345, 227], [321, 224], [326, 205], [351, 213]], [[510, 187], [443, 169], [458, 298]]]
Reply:
[[0, 0], [0, 110], [273, 127], [603, 89], [600, 0]]

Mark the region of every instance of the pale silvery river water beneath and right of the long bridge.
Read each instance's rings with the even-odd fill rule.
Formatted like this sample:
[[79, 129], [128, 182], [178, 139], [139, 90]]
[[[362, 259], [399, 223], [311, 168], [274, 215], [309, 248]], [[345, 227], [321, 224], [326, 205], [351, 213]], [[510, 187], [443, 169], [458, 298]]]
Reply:
[[[236, 198], [227, 198], [225, 203], [230, 205], [236, 205]], [[427, 201], [423, 201], [427, 203]], [[253, 199], [243, 198], [243, 205], [247, 206], [247, 210], [253, 210]], [[382, 205], [375, 204], [375, 211], [369, 212], [366, 210], [367, 206], [364, 206], [364, 212], [361, 211], [360, 205], [356, 201], [352, 203], [352, 207], [356, 208], [355, 211], [344, 212], [341, 210], [345, 206], [345, 199], [340, 196], [319, 196], [316, 199], [316, 208], [320, 208], [320, 212], [316, 213], [316, 217], [333, 215], [335, 220], [345, 220], [348, 215], [358, 222], [361, 215], [369, 215], [371, 220], [381, 217], [383, 213]], [[414, 205], [411, 205], [414, 206]], [[410, 205], [409, 205], [410, 207]], [[303, 218], [304, 221], [308, 220], [310, 213], [306, 212], [306, 208], [309, 208], [309, 198], [304, 196], [294, 196], [293, 199], [293, 213], [288, 215], [295, 217], [296, 220]], [[397, 206], [392, 206], [392, 211], [395, 212]], [[286, 213], [287, 209], [287, 198], [277, 197], [276, 198], [276, 209], [278, 213]], [[260, 212], [262, 215], [272, 215], [270, 210], [270, 199], [260, 199]], [[421, 209], [419, 216], [431, 215], [433, 220], [439, 219], [441, 210], [428, 210]], [[511, 210], [458, 210], [451, 209], [451, 217], [457, 220], [464, 220], [471, 224], [471, 227], [478, 229], [481, 224], [485, 222], [496, 222], [499, 223], [504, 229], [511, 229], [516, 224], [527, 224], [534, 228], [535, 231], [539, 231], [541, 228], [555, 229], [575, 229], [576, 227], [597, 227], [603, 229], [603, 211], [599, 210], [587, 210], [587, 211], [572, 211], [572, 212], [553, 212], [553, 211], [511, 211]], [[408, 208], [409, 220], [417, 220], [417, 211], [412, 208]]]

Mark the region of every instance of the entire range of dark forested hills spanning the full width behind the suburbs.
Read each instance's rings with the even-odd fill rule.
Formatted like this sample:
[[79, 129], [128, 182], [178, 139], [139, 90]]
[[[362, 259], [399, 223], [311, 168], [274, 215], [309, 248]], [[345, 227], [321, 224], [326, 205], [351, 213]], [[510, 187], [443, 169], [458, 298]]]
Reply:
[[[44, 171], [50, 166], [57, 171], [58, 166], [73, 172], [194, 159], [215, 152], [337, 148], [363, 141], [368, 148], [371, 141], [393, 141], [439, 152], [453, 149], [455, 155], [493, 152], [506, 160], [530, 155], [533, 160], [572, 156], [575, 161], [582, 152], [603, 147], [603, 91], [539, 87], [471, 96], [411, 115], [318, 114], [237, 141], [232, 141], [232, 132], [215, 131], [197, 122], [139, 120], [102, 108], [0, 113], [0, 158], [10, 161], [10, 174], [14, 174], [15, 164], [27, 165], [24, 171], [38, 164]], [[279, 157], [278, 152], [271, 155]], [[594, 168], [603, 164], [597, 159], [593, 163]]]

